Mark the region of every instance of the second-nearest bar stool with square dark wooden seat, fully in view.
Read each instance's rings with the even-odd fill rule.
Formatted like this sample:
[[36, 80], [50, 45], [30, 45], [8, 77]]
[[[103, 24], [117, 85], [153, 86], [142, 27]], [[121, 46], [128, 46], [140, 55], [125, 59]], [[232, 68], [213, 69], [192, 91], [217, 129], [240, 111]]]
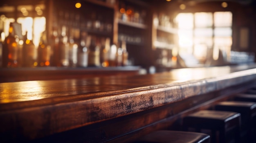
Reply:
[[231, 140], [240, 143], [240, 118], [241, 115], [237, 112], [200, 110], [183, 118], [183, 130], [210, 130], [211, 143], [226, 143]]

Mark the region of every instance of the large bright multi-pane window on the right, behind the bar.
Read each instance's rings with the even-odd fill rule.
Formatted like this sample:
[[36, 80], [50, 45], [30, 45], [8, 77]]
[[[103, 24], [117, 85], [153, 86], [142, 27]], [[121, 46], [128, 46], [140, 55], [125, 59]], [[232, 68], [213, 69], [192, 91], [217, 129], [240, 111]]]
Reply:
[[231, 12], [179, 13], [176, 21], [181, 55], [194, 55], [199, 61], [205, 61], [210, 50], [213, 51], [213, 59], [218, 59], [219, 50], [229, 55], [232, 45]]

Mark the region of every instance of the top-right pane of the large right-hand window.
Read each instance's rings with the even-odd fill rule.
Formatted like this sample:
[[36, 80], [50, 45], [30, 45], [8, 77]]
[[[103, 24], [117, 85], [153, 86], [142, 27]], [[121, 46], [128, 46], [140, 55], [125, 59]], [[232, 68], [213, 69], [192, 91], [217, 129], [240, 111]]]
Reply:
[[232, 13], [230, 11], [215, 12], [214, 26], [232, 26]]

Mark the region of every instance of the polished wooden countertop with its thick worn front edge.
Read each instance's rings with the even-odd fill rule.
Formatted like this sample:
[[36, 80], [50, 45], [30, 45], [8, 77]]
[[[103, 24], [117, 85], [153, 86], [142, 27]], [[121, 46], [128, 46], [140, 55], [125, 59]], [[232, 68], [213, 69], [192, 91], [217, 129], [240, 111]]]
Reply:
[[0, 136], [37, 139], [256, 80], [256, 65], [0, 83]]

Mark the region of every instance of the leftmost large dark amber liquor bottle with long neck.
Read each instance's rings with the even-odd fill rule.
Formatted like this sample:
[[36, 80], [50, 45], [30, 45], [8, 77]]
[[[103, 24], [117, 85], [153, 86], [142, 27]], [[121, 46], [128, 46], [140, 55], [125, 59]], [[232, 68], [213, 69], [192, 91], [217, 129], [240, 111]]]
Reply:
[[4, 40], [2, 49], [3, 67], [18, 67], [18, 40], [14, 37], [13, 23], [10, 23], [9, 35]]

